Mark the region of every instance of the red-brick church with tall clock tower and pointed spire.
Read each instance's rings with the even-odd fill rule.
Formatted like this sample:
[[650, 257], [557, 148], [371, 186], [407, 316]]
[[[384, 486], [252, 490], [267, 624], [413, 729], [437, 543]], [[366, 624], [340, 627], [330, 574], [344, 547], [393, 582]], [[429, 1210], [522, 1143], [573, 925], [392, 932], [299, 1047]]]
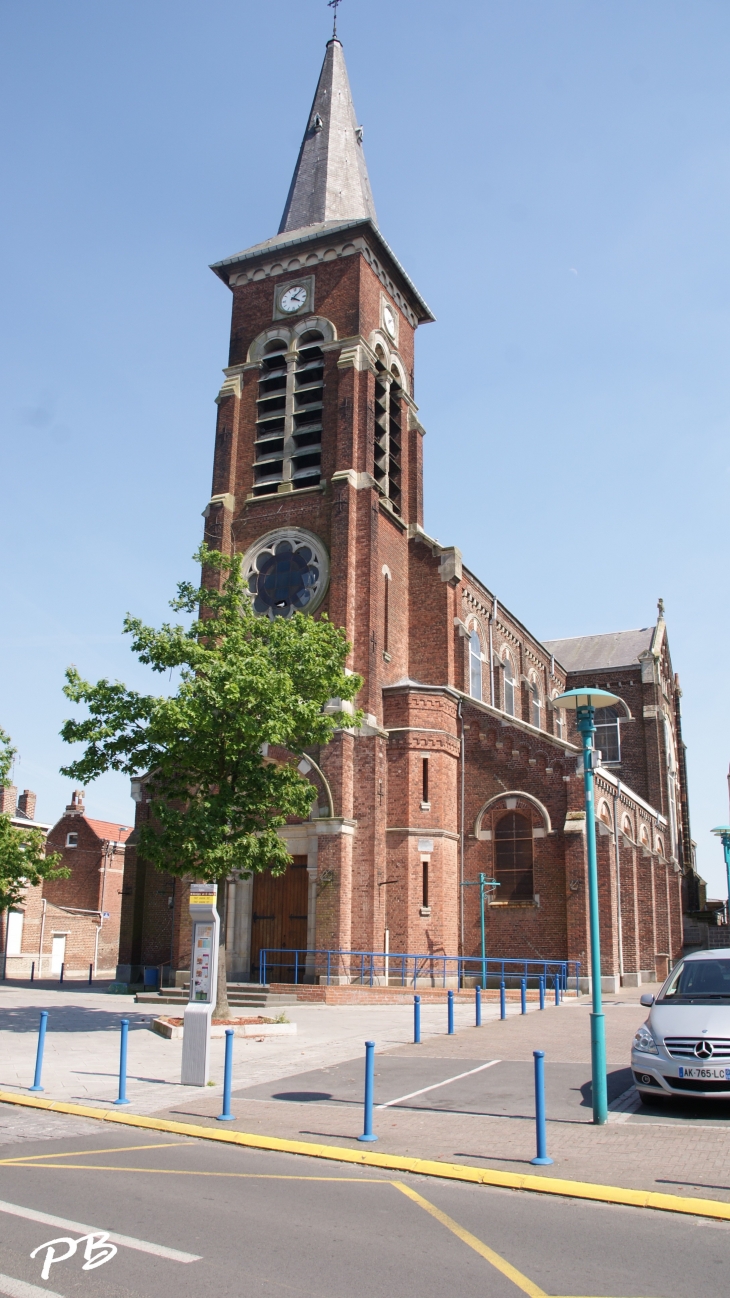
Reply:
[[[696, 875], [661, 601], [651, 627], [546, 643], [429, 536], [413, 376], [434, 317], [378, 227], [338, 39], [279, 232], [212, 269], [233, 321], [205, 539], [243, 556], [261, 617], [346, 628], [365, 713], [296, 755], [313, 806], [281, 831], [288, 874], [229, 881], [230, 976], [256, 981], [262, 949], [477, 955], [479, 872], [488, 955], [587, 971], [581, 744], [552, 706], [583, 684], [620, 698], [596, 716], [604, 986], [664, 976]], [[132, 837], [121, 979], [188, 968], [186, 892]]]

